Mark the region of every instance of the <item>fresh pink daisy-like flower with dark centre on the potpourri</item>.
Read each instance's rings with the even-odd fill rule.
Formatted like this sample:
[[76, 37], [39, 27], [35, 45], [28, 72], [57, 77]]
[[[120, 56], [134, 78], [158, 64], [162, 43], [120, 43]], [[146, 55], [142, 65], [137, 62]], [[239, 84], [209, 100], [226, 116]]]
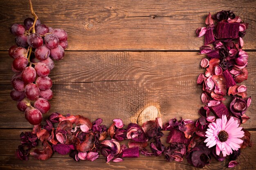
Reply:
[[226, 115], [222, 115], [221, 119], [209, 124], [205, 135], [207, 139], [204, 140], [207, 142], [206, 146], [211, 148], [216, 145], [217, 155], [220, 155], [220, 151], [224, 157], [230, 155], [232, 150], [238, 150], [239, 144], [243, 143], [243, 140], [239, 139], [244, 136], [244, 131], [241, 131], [243, 127], [238, 126], [238, 120], [234, 117], [230, 117], [227, 121]]

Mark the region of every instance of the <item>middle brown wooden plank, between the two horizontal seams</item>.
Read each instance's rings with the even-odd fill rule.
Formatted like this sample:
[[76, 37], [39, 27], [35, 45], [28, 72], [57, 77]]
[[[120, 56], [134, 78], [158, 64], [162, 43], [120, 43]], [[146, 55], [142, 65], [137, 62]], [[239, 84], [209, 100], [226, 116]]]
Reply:
[[[0, 52], [0, 114], [4, 128], [32, 127], [25, 121], [16, 102], [9, 97], [12, 87], [12, 59]], [[49, 77], [54, 86], [50, 113], [80, 114], [95, 120], [103, 118], [108, 126], [112, 119], [121, 118], [125, 124], [136, 122], [139, 113], [155, 106], [164, 122], [183, 117], [196, 120], [202, 106], [202, 86], [196, 84], [204, 72], [197, 52], [66, 52], [63, 60]], [[248, 96], [256, 96], [256, 52], [249, 52]], [[75, 65], [75, 67], [74, 67]], [[227, 97], [225, 103], [229, 103]], [[256, 103], [247, 110], [251, 117], [243, 126], [256, 127]], [[9, 122], [14, 121], [15, 124]]]

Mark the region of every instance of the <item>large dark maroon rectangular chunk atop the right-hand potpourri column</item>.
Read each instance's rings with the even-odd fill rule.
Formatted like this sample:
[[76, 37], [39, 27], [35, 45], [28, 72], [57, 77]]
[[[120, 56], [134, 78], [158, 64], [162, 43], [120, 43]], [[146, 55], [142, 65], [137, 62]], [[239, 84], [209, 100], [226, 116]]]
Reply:
[[218, 22], [216, 33], [218, 39], [238, 38], [239, 23]]

